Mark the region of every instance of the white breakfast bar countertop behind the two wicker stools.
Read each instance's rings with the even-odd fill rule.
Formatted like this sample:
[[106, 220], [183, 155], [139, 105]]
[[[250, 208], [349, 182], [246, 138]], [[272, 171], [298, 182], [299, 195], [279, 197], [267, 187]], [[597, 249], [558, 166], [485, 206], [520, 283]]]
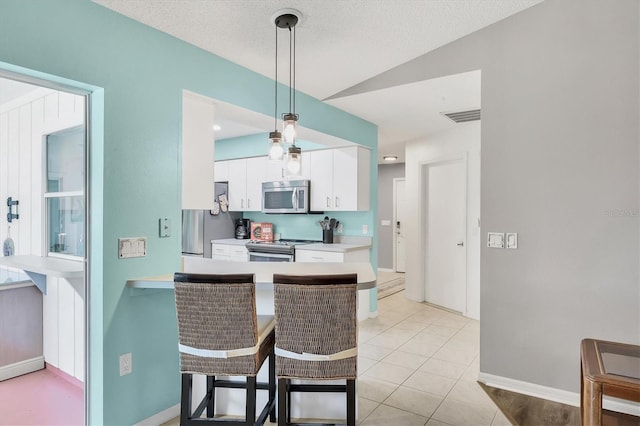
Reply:
[[[358, 274], [358, 290], [376, 286], [376, 275], [368, 262], [227, 262], [200, 257], [185, 258], [184, 272], [200, 274], [256, 274], [256, 285], [272, 285], [273, 274]], [[172, 289], [173, 273], [127, 280], [131, 288]]]

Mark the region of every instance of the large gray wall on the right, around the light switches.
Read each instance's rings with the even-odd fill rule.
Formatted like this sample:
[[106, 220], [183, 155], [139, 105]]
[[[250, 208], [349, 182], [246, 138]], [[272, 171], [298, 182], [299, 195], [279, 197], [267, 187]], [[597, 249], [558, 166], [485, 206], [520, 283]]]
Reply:
[[343, 93], [482, 70], [481, 232], [519, 233], [481, 250], [483, 373], [578, 392], [581, 339], [640, 343], [638, 8], [546, 0]]

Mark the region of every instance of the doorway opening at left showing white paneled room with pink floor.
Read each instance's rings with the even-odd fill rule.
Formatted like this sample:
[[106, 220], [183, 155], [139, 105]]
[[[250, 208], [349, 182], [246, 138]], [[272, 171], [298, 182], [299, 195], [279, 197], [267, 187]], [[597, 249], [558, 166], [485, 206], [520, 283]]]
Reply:
[[[0, 412], [10, 424], [85, 423], [88, 112], [86, 91], [0, 70], [0, 200], [19, 201], [18, 217], [0, 215], [0, 237], [13, 242], [0, 257], [9, 271], [0, 304], [2, 293], [14, 303], [10, 293], [25, 293], [25, 317], [0, 318], [0, 333], [22, 332], [0, 336], [0, 389], [11, 395]], [[2, 280], [11, 271], [20, 283]]]

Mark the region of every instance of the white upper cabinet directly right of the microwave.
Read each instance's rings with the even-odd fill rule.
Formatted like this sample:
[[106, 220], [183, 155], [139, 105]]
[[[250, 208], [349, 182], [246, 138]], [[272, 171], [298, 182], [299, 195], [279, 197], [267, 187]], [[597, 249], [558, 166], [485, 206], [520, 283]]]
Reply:
[[352, 146], [311, 151], [311, 210], [368, 210], [371, 152]]

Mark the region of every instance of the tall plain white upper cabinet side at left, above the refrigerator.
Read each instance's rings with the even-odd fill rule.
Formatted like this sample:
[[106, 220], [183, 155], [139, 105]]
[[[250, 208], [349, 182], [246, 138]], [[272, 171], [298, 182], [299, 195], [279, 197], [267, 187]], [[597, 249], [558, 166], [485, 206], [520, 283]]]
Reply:
[[182, 208], [213, 208], [214, 106], [210, 99], [182, 92]]

